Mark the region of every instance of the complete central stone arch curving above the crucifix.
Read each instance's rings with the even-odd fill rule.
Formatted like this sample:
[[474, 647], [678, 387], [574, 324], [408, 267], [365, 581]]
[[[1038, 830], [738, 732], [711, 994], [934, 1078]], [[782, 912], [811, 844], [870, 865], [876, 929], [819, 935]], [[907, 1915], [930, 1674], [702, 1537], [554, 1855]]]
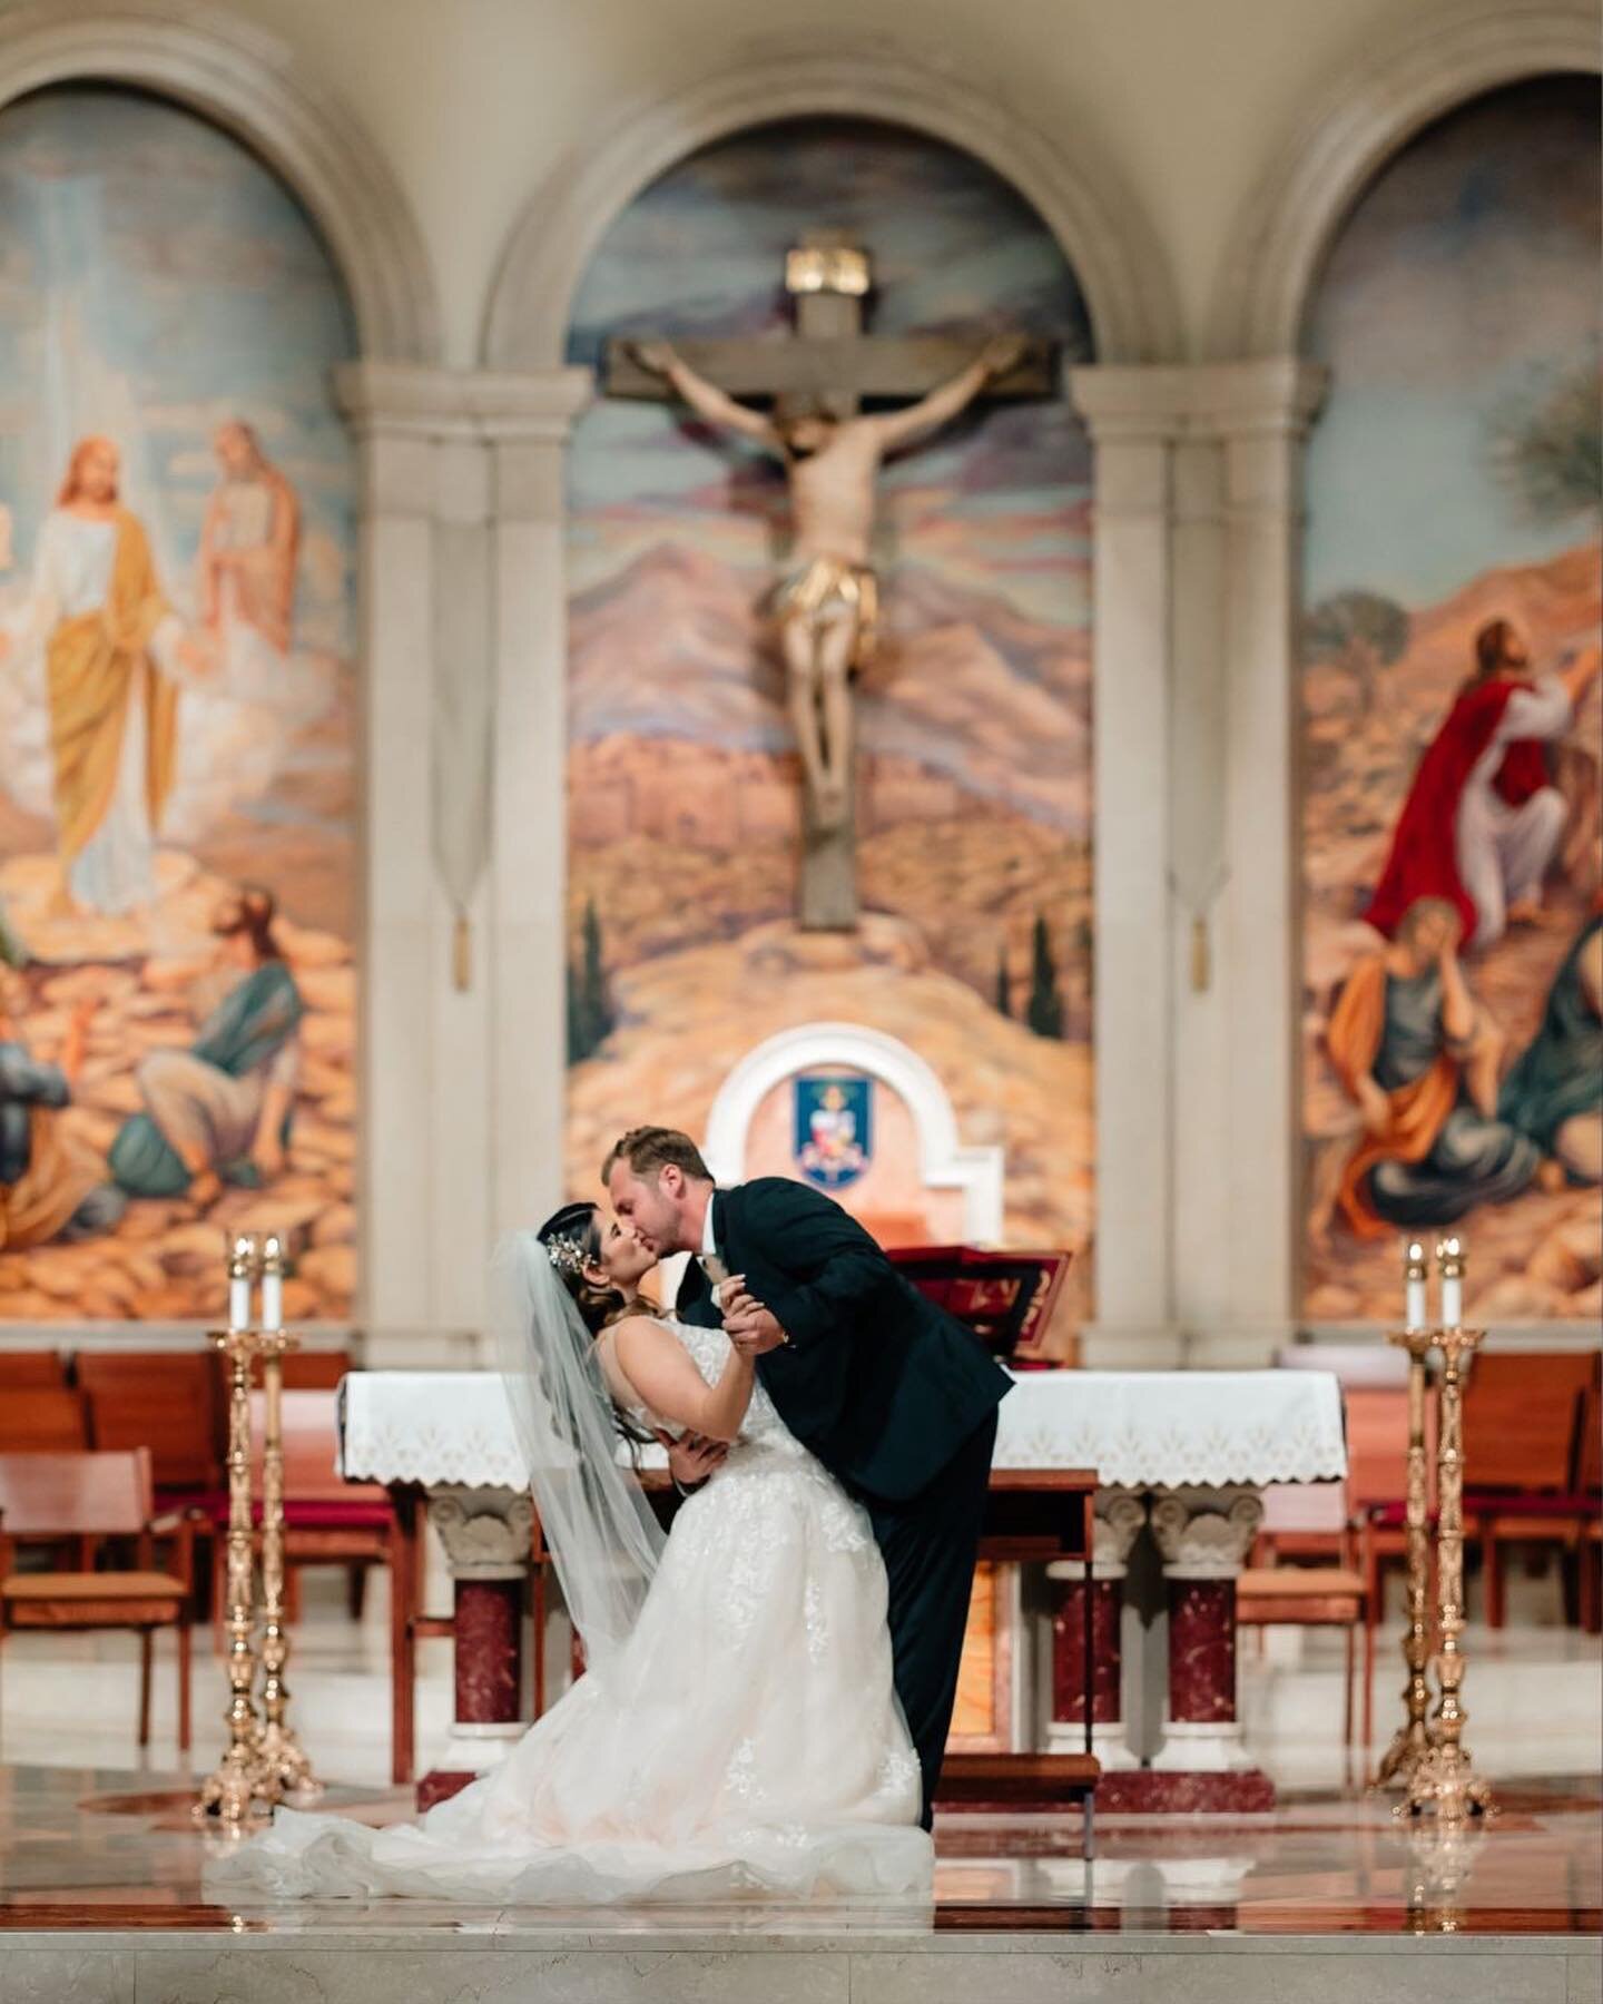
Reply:
[[613, 218], [677, 160], [781, 118], [846, 116], [908, 126], [974, 154], [1032, 202], [1086, 299], [1098, 363], [1166, 361], [1180, 317], [1146, 218], [1106, 162], [1068, 150], [1004, 94], [916, 62], [884, 42], [767, 46], [711, 76], [647, 96], [563, 160], [513, 226], [483, 355], [489, 369], [555, 369], [573, 295]]

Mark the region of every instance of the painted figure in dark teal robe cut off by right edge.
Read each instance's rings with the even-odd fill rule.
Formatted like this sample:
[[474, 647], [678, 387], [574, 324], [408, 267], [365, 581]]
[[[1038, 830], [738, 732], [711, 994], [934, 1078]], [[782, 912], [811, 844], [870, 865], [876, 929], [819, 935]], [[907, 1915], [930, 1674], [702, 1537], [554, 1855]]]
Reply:
[[1497, 1112], [1541, 1148], [1545, 1186], [1603, 1182], [1603, 892], [1553, 976]]

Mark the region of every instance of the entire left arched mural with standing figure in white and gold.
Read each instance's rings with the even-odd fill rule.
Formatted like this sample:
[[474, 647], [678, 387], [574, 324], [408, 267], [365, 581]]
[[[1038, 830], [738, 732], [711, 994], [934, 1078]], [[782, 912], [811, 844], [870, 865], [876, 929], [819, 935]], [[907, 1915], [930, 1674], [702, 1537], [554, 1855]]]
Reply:
[[353, 353], [166, 102], [0, 114], [0, 1321], [188, 1321], [232, 1228], [355, 1291]]

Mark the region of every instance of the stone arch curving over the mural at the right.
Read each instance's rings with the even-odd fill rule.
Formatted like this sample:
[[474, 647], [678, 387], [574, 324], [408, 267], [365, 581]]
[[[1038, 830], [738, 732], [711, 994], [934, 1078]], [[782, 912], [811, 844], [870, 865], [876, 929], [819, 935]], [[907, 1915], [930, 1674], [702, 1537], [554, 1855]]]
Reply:
[[1290, 122], [1230, 236], [1208, 331], [1216, 361], [1294, 355], [1324, 255], [1375, 172], [1455, 106], [1553, 70], [1597, 72], [1585, 0], [1463, 0], [1399, 20]]

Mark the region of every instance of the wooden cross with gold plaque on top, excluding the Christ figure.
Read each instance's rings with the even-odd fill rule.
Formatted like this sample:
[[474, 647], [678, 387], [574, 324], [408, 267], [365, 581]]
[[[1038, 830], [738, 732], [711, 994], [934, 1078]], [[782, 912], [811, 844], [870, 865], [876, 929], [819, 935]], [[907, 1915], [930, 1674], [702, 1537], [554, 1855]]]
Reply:
[[[789, 417], [822, 411], [852, 419], [864, 401], [914, 401], [966, 369], [978, 337], [868, 335], [866, 301], [872, 287], [868, 253], [840, 230], [810, 230], [785, 257], [785, 291], [795, 309], [795, 333], [675, 341], [679, 357], [727, 397], [741, 403], [771, 401]], [[613, 397], [673, 401], [673, 389], [643, 369], [631, 335], [607, 343], [605, 385]], [[986, 399], [1050, 397], [1054, 355], [1046, 341], [1030, 343], [1018, 363], [994, 379]], [[852, 798], [852, 790], [848, 790]], [[842, 932], [858, 924], [856, 830], [844, 820], [822, 822], [804, 792], [802, 924]]]

